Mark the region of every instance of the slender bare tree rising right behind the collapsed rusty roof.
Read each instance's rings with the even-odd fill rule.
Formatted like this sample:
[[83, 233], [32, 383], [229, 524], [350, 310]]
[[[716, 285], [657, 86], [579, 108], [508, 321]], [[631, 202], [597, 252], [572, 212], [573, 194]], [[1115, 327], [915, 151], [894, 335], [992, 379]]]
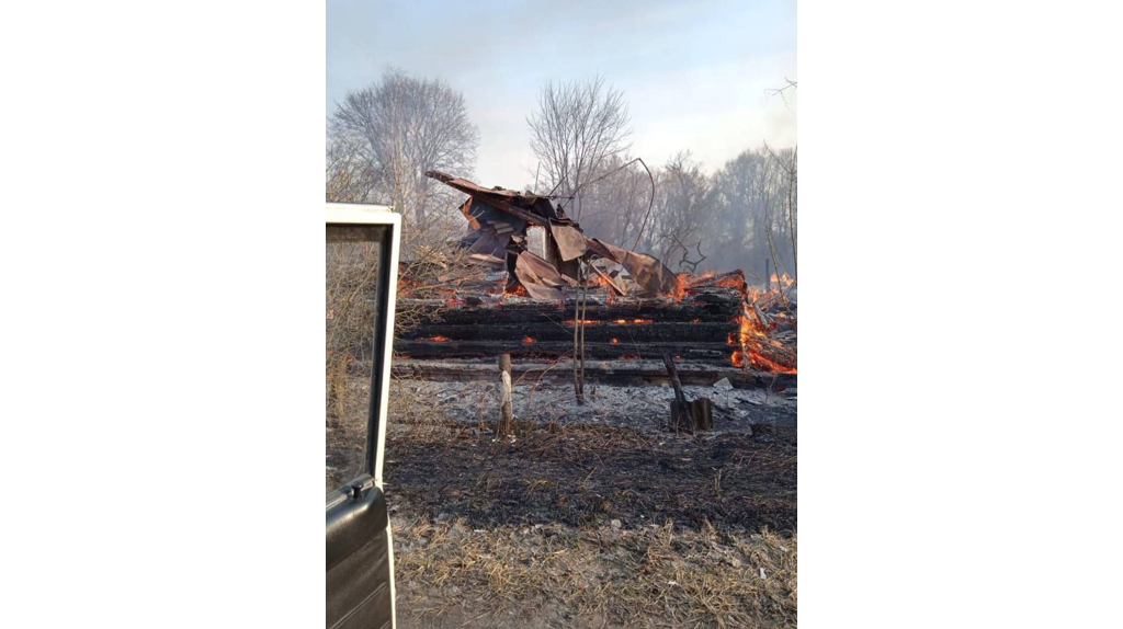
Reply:
[[608, 86], [602, 76], [551, 82], [538, 95], [538, 111], [527, 119], [530, 147], [556, 193], [574, 197], [575, 219], [582, 215], [582, 184], [631, 147], [630, 120], [623, 92]]

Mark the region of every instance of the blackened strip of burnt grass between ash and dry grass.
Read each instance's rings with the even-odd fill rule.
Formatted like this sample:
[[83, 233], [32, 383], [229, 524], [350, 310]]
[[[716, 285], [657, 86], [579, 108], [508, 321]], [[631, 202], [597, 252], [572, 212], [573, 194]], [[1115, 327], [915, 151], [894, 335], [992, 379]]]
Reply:
[[796, 429], [679, 435], [606, 425], [527, 425], [514, 438], [445, 425], [391, 431], [386, 498], [399, 509], [473, 528], [623, 528], [706, 522], [796, 531]]

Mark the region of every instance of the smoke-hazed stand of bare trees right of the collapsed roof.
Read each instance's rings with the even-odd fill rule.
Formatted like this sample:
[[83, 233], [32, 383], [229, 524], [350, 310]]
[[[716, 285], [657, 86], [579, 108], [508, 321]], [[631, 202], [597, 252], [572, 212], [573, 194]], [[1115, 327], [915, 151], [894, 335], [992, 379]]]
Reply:
[[679, 152], [654, 172], [657, 191], [645, 226], [647, 176], [627, 156], [605, 159], [582, 187], [585, 231], [626, 247], [639, 235], [640, 251], [672, 267], [678, 261], [684, 271], [739, 268], [758, 280], [772, 269], [796, 275], [796, 149], [763, 145], [713, 175]]

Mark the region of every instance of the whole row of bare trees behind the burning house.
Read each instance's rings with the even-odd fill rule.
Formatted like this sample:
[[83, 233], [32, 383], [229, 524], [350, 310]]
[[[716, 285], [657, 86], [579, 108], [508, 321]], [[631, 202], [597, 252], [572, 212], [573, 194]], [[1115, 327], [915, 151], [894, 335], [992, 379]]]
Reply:
[[[796, 276], [796, 149], [761, 145], [712, 174], [688, 150], [649, 167], [632, 152], [624, 94], [603, 77], [549, 83], [536, 104], [527, 124], [539, 173], [527, 187], [555, 195], [590, 235], [677, 271]], [[389, 71], [328, 120], [327, 198], [393, 205], [407, 257], [444, 250], [463, 234], [463, 197], [424, 173], [472, 178], [478, 145], [459, 92]]]

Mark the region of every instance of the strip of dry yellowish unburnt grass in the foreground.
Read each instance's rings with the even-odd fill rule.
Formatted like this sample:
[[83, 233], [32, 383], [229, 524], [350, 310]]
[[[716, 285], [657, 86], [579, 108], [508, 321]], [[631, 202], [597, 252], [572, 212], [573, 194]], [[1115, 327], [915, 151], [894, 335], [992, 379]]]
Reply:
[[419, 518], [395, 519], [394, 540], [403, 626], [439, 626], [457, 604], [480, 627], [796, 623], [794, 536]]

